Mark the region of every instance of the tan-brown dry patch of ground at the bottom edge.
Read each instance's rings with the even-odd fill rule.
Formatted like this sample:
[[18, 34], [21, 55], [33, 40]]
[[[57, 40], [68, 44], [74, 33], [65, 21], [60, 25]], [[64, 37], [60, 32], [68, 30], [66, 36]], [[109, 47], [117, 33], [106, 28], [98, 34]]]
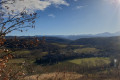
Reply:
[[81, 77], [82, 75], [73, 72], [54, 72], [27, 76], [25, 80], [77, 80]]

